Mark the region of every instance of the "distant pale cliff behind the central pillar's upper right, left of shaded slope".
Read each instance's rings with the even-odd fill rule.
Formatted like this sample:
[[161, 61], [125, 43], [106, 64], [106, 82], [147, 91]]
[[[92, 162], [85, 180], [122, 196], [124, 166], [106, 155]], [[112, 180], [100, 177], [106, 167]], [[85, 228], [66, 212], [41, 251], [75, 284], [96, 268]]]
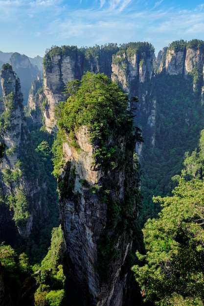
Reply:
[[[130, 105], [136, 115], [134, 124], [141, 128], [145, 142], [154, 146], [157, 109], [157, 98], [153, 96], [154, 47], [148, 43], [129, 43], [123, 48], [113, 55], [112, 80], [130, 97], [138, 97], [139, 103], [133, 101]], [[136, 149], [140, 155], [142, 146]]]

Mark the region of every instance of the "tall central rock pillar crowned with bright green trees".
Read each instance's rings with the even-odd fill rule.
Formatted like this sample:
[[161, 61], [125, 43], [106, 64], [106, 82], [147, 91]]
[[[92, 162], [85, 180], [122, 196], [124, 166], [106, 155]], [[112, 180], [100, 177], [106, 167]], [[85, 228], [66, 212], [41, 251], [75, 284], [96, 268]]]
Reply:
[[73, 304], [122, 305], [139, 205], [133, 161], [139, 135], [127, 105], [107, 77], [87, 73], [60, 108], [64, 166], [58, 187]]

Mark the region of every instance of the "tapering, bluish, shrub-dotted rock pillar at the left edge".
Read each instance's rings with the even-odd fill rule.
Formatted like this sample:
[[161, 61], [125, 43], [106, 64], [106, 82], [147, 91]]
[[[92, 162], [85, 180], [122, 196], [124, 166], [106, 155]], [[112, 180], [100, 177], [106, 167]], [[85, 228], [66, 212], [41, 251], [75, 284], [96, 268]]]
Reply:
[[[16, 224], [19, 234], [26, 238], [31, 234], [36, 219], [39, 221], [40, 215], [45, 214], [41, 191], [44, 189], [46, 194], [46, 185], [44, 182], [39, 185], [37, 175], [33, 178], [37, 165], [34, 165], [35, 157], [23, 113], [19, 78], [9, 64], [3, 66], [0, 77], [3, 91], [0, 113], [0, 219], [4, 219], [8, 226], [12, 223], [13, 230]], [[6, 228], [1, 228], [1, 239], [8, 236]]]

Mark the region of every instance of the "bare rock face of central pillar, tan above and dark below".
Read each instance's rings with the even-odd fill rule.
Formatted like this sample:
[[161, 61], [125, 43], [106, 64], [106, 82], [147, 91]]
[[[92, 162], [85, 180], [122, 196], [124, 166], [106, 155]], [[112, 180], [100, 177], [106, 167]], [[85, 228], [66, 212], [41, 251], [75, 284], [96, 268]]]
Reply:
[[[120, 232], [118, 229], [120, 233], [117, 234], [113, 233], [113, 228], [110, 230], [109, 226], [113, 224], [110, 224], [110, 207], [105, 197], [115, 203], [125, 201], [126, 186], [134, 185], [134, 178], [128, 177], [122, 165], [110, 171], [93, 166], [94, 148], [87, 127], [81, 127], [76, 137], [80, 151], [70, 147], [68, 142], [64, 143], [66, 166], [58, 184], [70, 282], [77, 284], [73, 292], [79, 297], [80, 305], [121, 306], [127, 273], [122, 272], [122, 267], [132, 239], [128, 230]], [[114, 145], [120, 142], [125, 150], [125, 139], [114, 139]], [[113, 185], [118, 188], [112, 189]], [[133, 219], [136, 212], [135, 205]], [[109, 248], [113, 248], [115, 254]]]

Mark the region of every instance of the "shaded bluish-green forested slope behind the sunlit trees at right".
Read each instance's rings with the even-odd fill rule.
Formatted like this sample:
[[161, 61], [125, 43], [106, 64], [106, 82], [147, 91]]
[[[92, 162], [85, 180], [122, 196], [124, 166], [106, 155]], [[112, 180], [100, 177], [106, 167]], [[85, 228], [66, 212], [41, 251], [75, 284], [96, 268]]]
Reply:
[[[183, 155], [195, 149], [199, 133], [204, 126], [201, 98], [193, 91], [191, 75], [184, 79], [181, 75], [160, 73], [154, 81], [157, 92], [155, 130], [151, 131], [149, 126], [148, 129], [144, 126], [144, 117], [140, 117], [139, 113], [137, 118], [145, 140], [140, 159], [143, 169], [143, 209], [140, 214], [142, 223], [159, 213], [159, 203], [152, 202], [153, 195], [171, 194], [171, 190], [176, 186], [171, 177], [181, 174]], [[153, 96], [149, 99], [153, 100]], [[145, 103], [147, 106], [149, 100]], [[155, 136], [154, 146], [149, 145], [152, 134]]]

